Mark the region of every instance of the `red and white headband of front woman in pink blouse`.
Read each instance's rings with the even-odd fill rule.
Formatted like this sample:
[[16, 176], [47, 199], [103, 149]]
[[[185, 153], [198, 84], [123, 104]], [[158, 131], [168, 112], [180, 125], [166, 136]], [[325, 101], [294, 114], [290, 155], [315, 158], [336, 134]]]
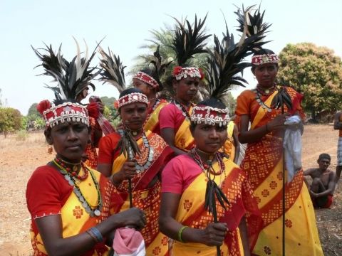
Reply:
[[195, 124], [204, 122], [204, 124], [219, 124], [219, 126], [227, 125], [230, 120], [227, 107], [225, 109], [219, 109], [216, 107], [198, 105], [192, 109], [190, 119], [192, 122], [195, 122]]

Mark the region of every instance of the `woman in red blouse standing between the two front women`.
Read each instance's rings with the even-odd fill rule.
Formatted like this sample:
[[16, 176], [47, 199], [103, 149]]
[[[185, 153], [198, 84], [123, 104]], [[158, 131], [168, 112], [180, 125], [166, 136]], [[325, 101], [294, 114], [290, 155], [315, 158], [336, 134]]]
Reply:
[[[139, 94], [139, 97], [138, 97]], [[135, 97], [137, 96], [137, 97]], [[128, 156], [117, 148], [121, 131], [108, 134], [100, 140], [98, 170], [110, 176], [125, 203], [120, 210], [130, 207], [128, 178], [131, 180], [133, 206], [144, 210], [147, 225], [140, 232], [145, 240], [147, 255], [165, 255], [167, 238], [158, 225], [160, 208], [160, 174], [165, 163], [173, 156], [170, 146], [157, 134], [144, 132], [142, 125], [147, 112], [147, 97], [138, 89], [128, 89], [120, 94], [119, 113], [136, 139], [141, 154]], [[120, 105], [120, 102], [128, 104]]]

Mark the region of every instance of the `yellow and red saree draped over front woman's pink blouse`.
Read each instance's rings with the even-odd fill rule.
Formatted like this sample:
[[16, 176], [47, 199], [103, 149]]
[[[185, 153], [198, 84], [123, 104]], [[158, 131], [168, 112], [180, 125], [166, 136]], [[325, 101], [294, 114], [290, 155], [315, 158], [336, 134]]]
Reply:
[[[188, 165], [187, 169], [199, 168], [195, 161]], [[254, 210], [257, 210], [257, 203], [253, 201], [252, 189], [244, 173], [230, 159], [224, 159], [224, 166], [225, 171], [215, 176], [215, 182], [222, 188], [230, 203], [227, 210], [224, 210], [217, 202], [217, 218], [219, 222], [227, 223], [229, 228], [224, 244], [221, 246], [222, 255], [244, 255], [238, 225], [242, 216], [253, 206]], [[218, 170], [219, 165], [215, 163], [213, 168]], [[204, 229], [213, 222], [212, 215], [204, 209], [206, 186], [207, 176], [201, 172], [182, 193], [175, 220], [183, 225], [199, 229]], [[170, 255], [216, 255], [216, 247], [174, 241], [170, 248]]]

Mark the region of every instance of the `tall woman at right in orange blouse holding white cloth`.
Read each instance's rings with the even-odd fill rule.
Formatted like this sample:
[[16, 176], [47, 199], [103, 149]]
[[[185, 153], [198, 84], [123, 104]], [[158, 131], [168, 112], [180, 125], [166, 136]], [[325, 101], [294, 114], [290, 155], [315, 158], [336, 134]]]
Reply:
[[[301, 95], [291, 87], [282, 87], [280, 90], [285, 90], [291, 97], [292, 108], [284, 106], [286, 114], [281, 114], [280, 109], [272, 106], [272, 100], [279, 90], [274, 83], [277, 61], [278, 57], [271, 50], [262, 49], [256, 53], [252, 58], [252, 72], [259, 82], [257, 88], [242, 92], [237, 99], [239, 140], [248, 143], [241, 168], [247, 173], [264, 220], [254, 247], [255, 255], [282, 254], [284, 121], [291, 114], [304, 116], [300, 105]], [[302, 170], [286, 182], [285, 253], [323, 255], [314, 208], [308, 189], [303, 184]]]

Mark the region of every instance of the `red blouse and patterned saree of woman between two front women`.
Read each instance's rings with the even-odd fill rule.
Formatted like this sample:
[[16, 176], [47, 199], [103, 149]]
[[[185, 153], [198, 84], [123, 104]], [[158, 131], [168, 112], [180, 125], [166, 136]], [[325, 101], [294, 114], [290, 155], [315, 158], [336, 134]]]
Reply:
[[[159, 230], [160, 180], [156, 176], [160, 175], [167, 161], [173, 156], [173, 151], [159, 135], [150, 131], [145, 134], [154, 154], [150, 167], [132, 178], [133, 206], [144, 210], [146, 214], [147, 225], [140, 231], [145, 240], [146, 255], [165, 255], [168, 250], [167, 237]], [[101, 138], [99, 144], [98, 161], [102, 164], [113, 164], [112, 174], [120, 171], [127, 161], [123, 154], [118, 154], [118, 151], [114, 152], [119, 140], [120, 134], [113, 133]], [[141, 159], [137, 158], [140, 163], [148, 156], [148, 149], [144, 146], [142, 138], [138, 139], [137, 143], [142, 152]], [[155, 183], [149, 187], [153, 180]], [[118, 186], [118, 191], [125, 201], [120, 210], [127, 210], [130, 207], [127, 180]]]

